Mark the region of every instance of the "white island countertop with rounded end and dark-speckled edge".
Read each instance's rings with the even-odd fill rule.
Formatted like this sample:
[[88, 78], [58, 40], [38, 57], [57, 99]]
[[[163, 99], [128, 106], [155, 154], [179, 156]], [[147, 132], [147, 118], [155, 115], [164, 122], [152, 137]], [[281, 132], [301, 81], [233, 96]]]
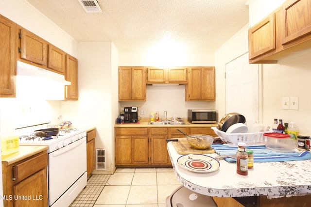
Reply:
[[[311, 160], [256, 162], [248, 175], [236, 173], [236, 164], [220, 160], [220, 168], [210, 173], [188, 171], [177, 164], [172, 142], [168, 152], [177, 179], [186, 188], [213, 197], [264, 196], [269, 199], [311, 194]], [[216, 157], [218, 154], [208, 154]]]

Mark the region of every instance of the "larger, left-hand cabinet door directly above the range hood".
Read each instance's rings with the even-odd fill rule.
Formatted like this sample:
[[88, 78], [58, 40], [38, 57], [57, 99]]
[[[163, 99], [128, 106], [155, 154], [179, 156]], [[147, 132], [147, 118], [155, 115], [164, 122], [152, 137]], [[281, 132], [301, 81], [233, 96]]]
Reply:
[[47, 65], [48, 43], [28, 30], [20, 30], [21, 58], [32, 63]]

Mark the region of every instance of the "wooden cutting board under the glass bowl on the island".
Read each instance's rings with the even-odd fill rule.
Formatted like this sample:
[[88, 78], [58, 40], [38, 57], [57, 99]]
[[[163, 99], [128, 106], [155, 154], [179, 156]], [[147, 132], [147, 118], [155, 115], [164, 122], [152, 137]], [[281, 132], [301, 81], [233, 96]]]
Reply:
[[215, 153], [215, 150], [210, 147], [208, 149], [195, 149], [190, 146], [187, 140], [178, 139], [178, 142], [173, 142], [173, 146], [175, 147], [177, 153], [180, 155]]

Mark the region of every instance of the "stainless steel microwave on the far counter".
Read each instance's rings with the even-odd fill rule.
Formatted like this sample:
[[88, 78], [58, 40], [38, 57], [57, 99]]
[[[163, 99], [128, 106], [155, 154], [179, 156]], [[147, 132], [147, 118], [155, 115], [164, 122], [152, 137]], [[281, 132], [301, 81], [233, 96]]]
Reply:
[[192, 124], [216, 123], [216, 110], [188, 109], [188, 121]]

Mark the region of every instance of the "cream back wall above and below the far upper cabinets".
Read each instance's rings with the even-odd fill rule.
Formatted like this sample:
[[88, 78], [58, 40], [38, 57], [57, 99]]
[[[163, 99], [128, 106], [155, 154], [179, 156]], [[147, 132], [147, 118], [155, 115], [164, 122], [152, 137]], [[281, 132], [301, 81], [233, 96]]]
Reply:
[[[186, 58], [185, 58], [186, 57]], [[214, 53], [188, 53], [179, 62], [171, 62], [173, 66], [214, 66]], [[150, 53], [119, 53], [120, 66], [158, 66], [161, 59], [153, 58]], [[218, 68], [216, 67], [216, 71]], [[217, 90], [217, 87], [216, 87]], [[187, 117], [188, 109], [215, 109], [215, 101], [185, 101], [185, 86], [147, 86], [147, 101], [120, 101], [120, 110], [124, 107], [136, 106], [138, 110], [146, 110], [147, 118], [151, 112], [159, 111], [162, 116], [167, 111], [169, 117]], [[217, 108], [216, 108], [217, 109]], [[117, 117], [116, 117], [117, 118]]]

